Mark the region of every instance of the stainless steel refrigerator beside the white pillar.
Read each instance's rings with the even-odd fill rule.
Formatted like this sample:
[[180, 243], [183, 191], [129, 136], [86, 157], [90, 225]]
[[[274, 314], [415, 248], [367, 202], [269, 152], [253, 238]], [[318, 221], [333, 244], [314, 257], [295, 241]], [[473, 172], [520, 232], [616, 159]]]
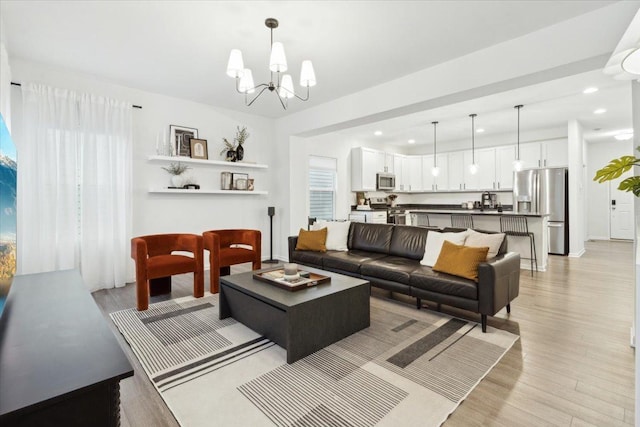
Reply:
[[549, 214], [550, 254], [569, 254], [567, 177], [567, 168], [525, 169], [513, 176], [514, 212]]

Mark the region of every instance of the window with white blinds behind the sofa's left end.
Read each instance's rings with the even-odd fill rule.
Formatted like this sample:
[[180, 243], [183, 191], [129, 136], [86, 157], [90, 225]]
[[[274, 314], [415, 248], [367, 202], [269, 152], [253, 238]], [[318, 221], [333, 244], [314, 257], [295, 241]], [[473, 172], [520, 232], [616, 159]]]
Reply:
[[309, 157], [309, 216], [332, 220], [336, 212], [337, 160]]

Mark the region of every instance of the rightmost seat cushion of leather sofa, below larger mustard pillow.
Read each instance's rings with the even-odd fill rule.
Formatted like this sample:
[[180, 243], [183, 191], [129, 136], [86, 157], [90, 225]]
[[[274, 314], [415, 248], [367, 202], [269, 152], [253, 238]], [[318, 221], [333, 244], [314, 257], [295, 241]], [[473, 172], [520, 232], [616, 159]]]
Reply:
[[409, 278], [409, 285], [445, 295], [472, 300], [478, 299], [478, 285], [473, 280], [433, 271], [431, 267], [416, 268]]

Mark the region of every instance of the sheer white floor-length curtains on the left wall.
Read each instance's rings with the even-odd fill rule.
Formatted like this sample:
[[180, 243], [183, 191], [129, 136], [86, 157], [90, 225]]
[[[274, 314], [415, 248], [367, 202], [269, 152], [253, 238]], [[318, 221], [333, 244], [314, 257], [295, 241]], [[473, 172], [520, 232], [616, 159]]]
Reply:
[[18, 273], [78, 268], [91, 291], [130, 281], [132, 106], [22, 85]]

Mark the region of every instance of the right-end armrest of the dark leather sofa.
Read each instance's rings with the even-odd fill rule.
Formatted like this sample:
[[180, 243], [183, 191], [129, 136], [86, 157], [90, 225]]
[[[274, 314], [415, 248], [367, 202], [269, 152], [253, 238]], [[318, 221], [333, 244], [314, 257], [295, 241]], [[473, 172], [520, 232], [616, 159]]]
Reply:
[[478, 266], [478, 311], [493, 316], [520, 291], [520, 254], [507, 252]]

